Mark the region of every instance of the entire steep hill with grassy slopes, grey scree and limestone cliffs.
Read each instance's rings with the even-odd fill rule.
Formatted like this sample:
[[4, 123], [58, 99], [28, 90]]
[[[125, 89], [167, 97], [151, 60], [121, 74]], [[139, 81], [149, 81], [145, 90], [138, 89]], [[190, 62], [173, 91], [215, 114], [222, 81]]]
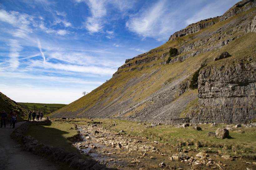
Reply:
[[[255, 119], [255, 25], [255, 0], [238, 2], [222, 16], [191, 24], [160, 47], [127, 59], [110, 80], [51, 117], [164, 124]], [[170, 56], [171, 48], [179, 54]], [[198, 88], [190, 89], [191, 83]]]

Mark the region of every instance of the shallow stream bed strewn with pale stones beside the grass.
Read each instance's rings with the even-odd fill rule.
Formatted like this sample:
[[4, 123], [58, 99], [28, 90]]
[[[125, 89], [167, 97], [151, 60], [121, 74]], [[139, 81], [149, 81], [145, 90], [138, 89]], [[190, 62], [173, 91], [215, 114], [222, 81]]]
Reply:
[[124, 131], [111, 133], [101, 124], [77, 126], [81, 141], [73, 146], [106, 167], [124, 170], [143, 169], [256, 169], [254, 160], [230, 155], [193, 152], [180, 147], [138, 138]]

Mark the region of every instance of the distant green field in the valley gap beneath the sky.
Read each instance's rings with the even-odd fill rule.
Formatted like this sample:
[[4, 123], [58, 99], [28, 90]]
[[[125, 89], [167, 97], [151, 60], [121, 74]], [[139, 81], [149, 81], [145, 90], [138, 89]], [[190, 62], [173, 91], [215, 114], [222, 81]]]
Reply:
[[44, 103], [18, 103], [18, 105], [22, 106], [27, 111], [31, 111], [31, 112], [42, 111], [45, 115], [66, 106], [66, 104], [44, 104]]

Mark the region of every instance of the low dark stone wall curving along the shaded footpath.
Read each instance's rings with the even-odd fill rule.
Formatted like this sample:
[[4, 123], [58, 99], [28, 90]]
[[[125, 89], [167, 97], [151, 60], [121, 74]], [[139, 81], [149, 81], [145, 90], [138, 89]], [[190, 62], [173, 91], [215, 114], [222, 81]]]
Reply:
[[[60, 161], [67, 164], [68, 167], [76, 168], [76, 169], [87, 169], [87, 170], [108, 170], [105, 164], [100, 164], [96, 160], [88, 158], [86, 160], [81, 159], [79, 155], [67, 152], [65, 149], [54, 148], [50, 145], [45, 145], [42, 142], [34, 139], [34, 137], [30, 135], [26, 135], [25, 133], [31, 125], [46, 125], [50, 120], [43, 121], [27, 121], [26, 123], [20, 125], [17, 129], [15, 129], [11, 137], [16, 141], [22, 141], [24, 144], [24, 148], [27, 151], [32, 151], [33, 153], [39, 155], [47, 155], [52, 156], [54, 161]], [[79, 134], [78, 134], [79, 136]], [[77, 139], [77, 135], [75, 135], [71, 139]]]

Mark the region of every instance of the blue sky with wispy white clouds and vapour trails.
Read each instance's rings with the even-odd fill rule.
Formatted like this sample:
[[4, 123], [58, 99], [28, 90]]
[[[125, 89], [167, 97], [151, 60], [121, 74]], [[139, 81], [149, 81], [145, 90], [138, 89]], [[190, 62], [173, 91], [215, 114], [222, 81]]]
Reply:
[[238, 0], [1, 0], [0, 92], [16, 102], [69, 104], [126, 59]]

